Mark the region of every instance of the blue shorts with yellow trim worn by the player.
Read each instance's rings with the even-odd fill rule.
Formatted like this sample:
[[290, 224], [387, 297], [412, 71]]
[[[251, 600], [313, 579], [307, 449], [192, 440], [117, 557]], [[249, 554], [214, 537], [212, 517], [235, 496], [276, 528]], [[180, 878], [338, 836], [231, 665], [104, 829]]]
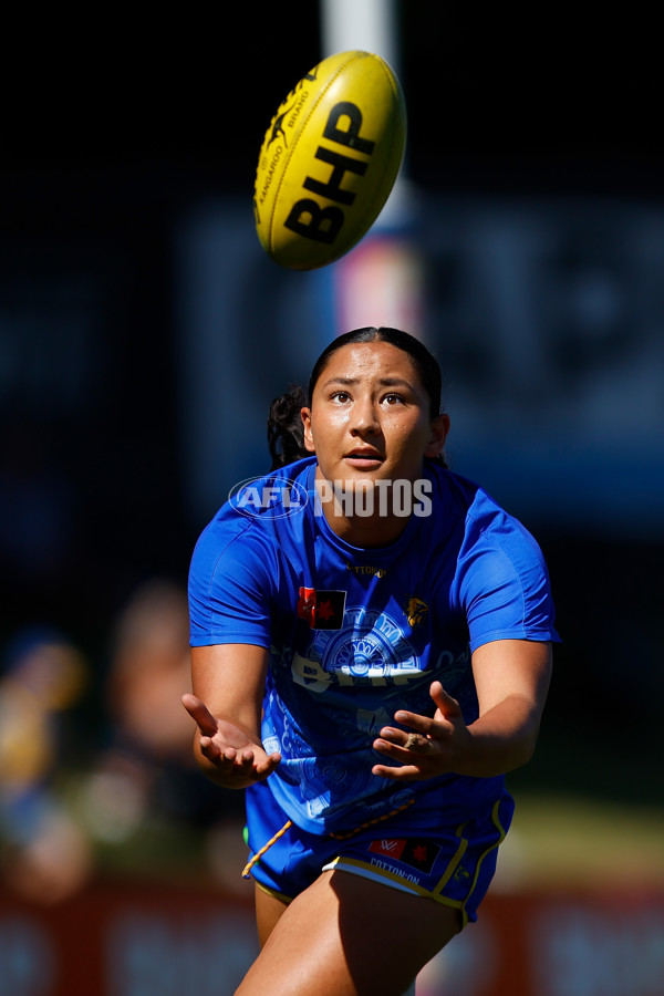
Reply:
[[[258, 789], [258, 791], [257, 791]], [[346, 837], [320, 837], [291, 823], [252, 865], [258, 885], [284, 902], [323, 871], [346, 871], [392, 889], [425, 896], [459, 911], [461, 926], [477, 920], [499, 844], [513, 813], [508, 792], [465, 822], [419, 830], [417, 806]], [[266, 782], [247, 793], [248, 844], [252, 855], [288, 823]]]

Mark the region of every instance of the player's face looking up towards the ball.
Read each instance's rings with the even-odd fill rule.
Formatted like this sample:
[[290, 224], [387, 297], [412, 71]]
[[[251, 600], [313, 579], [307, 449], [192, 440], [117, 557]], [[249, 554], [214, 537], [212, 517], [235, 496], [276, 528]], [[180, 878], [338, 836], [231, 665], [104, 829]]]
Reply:
[[416, 480], [443, 450], [447, 415], [430, 402], [407, 353], [387, 342], [349, 343], [330, 357], [302, 409], [304, 442], [330, 481]]

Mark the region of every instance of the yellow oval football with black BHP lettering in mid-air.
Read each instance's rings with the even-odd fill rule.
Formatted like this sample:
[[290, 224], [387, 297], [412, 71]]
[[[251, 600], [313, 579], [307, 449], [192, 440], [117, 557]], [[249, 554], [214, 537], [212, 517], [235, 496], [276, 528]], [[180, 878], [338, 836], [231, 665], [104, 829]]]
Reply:
[[276, 262], [313, 270], [355, 246], [398, 175], [406, 105], [394, 72], [371, 52], [340, 52], [300, 80], [266, 133], [253, 209]]

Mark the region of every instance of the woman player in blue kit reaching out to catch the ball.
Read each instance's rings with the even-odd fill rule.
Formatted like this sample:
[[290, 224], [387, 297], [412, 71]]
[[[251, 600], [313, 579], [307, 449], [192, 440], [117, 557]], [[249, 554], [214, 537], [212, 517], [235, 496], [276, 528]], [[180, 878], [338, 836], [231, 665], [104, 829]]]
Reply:
[[558, 636], [538, 546], [446, 468], [448, 428], [419, 341], [341, 335], [196, 547], [184, 704], [246, 789], [261, 942], [239, 996], [398, 996], [489, 886]]

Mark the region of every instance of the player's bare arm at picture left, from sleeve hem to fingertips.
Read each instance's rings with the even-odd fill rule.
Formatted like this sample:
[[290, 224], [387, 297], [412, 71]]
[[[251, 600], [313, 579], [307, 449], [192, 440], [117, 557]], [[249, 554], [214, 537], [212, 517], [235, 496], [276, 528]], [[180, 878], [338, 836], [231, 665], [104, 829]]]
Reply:
[[260, 740], [268, 651], [250, 644], [197, 646], [191, 651], [194, 694], [183, 705], [196, 722], [194, 756], [224, 788], [246, 788], [270, 775], [279, 754]]

